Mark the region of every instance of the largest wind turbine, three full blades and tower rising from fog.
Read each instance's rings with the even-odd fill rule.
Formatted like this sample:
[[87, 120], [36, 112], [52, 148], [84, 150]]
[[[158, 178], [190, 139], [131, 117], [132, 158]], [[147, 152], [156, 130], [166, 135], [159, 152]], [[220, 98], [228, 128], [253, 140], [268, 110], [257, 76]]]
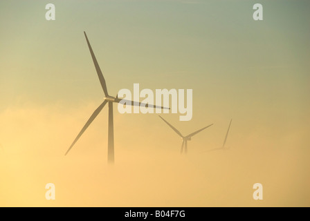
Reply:
[[[109, 95], [108, 90], [107, 90], [107, 85], [105, 83], [104, 77], [102, 75], [102, 72], [100, 70], [99, 64], [97, 59], [95, 58], [95, 54], [93, 53], [93, 49], [91, 48], [91, 44], [89, 44], [89, 39], [87, 38], [86, 32], [84, 32], [87, 44], [89, 46], [89, 51], [91, 52], [91, 57], [93, 59], [93, 64], [95, 65], [95, 70], [97, 72], [97, 75], [99, 77], [100, 84], [102, 86], [102, 90], [104, 92], [104, 101], [100, 106], [98, 106], [97, 109], [93, 112], [91, 117], [89, 117], [89, 120], [86, 122], [86, 124], [83, 126], [82, 130], [78, 134], [78, 136], [75, 138], [71, 146], [69, 147], [68, 151], [66, 151], [66, 154], [69, 153], [71, 148], [74, 146], [74, 144], [79, 140], [79, 138], [82, 136], [84, 131], [89, 127], [91, 122], [97, 117], [97, 115], [100, 113], [102, 108], [108, 103], [109, 104], [109, 131], [108, 131], [108, 162], [113, 163], [114, 162], [114, 132], [113, 132], [113, 103], [120, 103], [120, 104], [129, 104], [131, 106], [140, 106], [140, 104], [143, 104], [141, 102], [133, 102], [129, 101], [126, 99], [119, 99], [118, 95], [116, 97], [112, 97]], [[146, 107], [151, 107], [151, 108], [162, 108], [162, 109], [170, 109], [170, 108], [164, 108], [162, 106], [153, 106], [151, 104], [144, 104]]]

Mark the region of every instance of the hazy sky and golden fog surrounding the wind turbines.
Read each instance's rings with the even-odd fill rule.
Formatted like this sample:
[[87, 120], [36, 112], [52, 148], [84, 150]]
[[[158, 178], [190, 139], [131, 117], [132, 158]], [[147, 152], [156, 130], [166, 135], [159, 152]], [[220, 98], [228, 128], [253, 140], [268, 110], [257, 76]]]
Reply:
[[[55, 4], [55, 21], [45, 6]], [[309, 1], [1, 1], [0, 206], [310, 206]], [[107, 89], [192, 89], [193, 115], [107, 107]], [[220, 147], [230, 119], [226, 146]], [[2, 148], [1, 148], [2, 147]], [[264, 200], [253, 200], [253, 184]], [[55, 184], [56, 200], [45, 185]]]

